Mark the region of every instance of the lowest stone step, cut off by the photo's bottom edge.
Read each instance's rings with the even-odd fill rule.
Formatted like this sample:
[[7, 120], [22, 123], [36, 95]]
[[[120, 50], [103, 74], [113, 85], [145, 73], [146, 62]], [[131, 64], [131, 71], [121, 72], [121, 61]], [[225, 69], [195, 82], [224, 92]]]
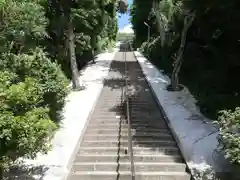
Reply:
[[[75, 172], [70, 176], [71, 180], [130, 180], [128, 171], [85, 171]], [[190, 175], [183, 172], [139, 172], [135, 180], [190, 180]]]

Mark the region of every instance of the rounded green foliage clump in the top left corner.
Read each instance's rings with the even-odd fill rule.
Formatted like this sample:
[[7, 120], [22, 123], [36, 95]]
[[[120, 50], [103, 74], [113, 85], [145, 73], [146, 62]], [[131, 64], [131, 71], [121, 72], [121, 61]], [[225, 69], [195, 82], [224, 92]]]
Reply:
[[47, 19], [39, 1], [1, 0], [0, 52], [28, 52], [47, 37]]

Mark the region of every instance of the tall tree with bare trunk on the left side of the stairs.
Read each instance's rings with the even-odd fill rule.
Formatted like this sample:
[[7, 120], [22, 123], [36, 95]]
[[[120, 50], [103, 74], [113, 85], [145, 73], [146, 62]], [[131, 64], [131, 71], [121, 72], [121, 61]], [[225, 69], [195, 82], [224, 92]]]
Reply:
[[[68, 46], [65, 50], [68, 49], [69, 51], [73, 89], [79, 90], [80, 84], [77, 69], [79, 64], [77, 61], [79, 60], [76, 58], [76, 53], [78, 57], [81, 57], [90, 50], [94, 59], [95, 50], [99, 51], [99, 48], [102, 48], [99, 46], [102, 44], [101, 34], [107, 35], [103, 32], [106, 30], [105, 27], [112, 23], [112, 19], [116, 16], [116, 11], [126, 12], [127, 9], [124, 8], [127, 5], [119, 1], [116, 2], [116, 0], [83, 0], [77, 2], [51, 0], [50, 2], [49, 7], [51, 10], [49, 11], [49, 17], [51, 24], [53, 24], [51, 32], [54, 32], [52, 33], [53, 36], [62, 36], [61, 38], [54, 38], [58, 39], [58, 41], [68, 40]], [[109, 17], [112, 18], [109, 19]], [[59, 20], [60, 25], [54, 25], [53, 21], [56, 20]], [[64, 34], [65, 31], [68, 33]], [[115, 29], [112, 29], [112, 31], [115, 31]], [[64, 38], [64, 36], [67, 38]], [[116, 38], [116, 34], [114, 38]]]

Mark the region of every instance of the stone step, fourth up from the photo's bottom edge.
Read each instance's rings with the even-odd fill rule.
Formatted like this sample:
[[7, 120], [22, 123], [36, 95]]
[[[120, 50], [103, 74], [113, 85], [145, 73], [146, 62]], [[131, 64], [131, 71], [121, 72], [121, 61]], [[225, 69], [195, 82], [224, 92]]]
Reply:
[[[78, 154], [124, 154], [128, 152], [128, 147], [81, 147], [78, 151]], [[179, 155], [180, 151], [176, 147], [162, 147], [162, 148], [147, 148], [147, 147], [133, 147], [133, 153], [138, 155], [154, 155], [154, 154], [162, 154], [162, 155]]]

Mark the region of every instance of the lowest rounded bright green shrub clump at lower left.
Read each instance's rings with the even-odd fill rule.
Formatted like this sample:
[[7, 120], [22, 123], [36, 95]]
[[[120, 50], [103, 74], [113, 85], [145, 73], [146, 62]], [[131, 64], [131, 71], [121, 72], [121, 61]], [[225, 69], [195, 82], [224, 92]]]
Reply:
[[38, 152], [46, 152], [49, 149], [46, 142], [55, 129], [47, 108], [35, 108], [21, 116], [2, 111], [0, 169], [6, 169], [18, 157], [33, 158]]

